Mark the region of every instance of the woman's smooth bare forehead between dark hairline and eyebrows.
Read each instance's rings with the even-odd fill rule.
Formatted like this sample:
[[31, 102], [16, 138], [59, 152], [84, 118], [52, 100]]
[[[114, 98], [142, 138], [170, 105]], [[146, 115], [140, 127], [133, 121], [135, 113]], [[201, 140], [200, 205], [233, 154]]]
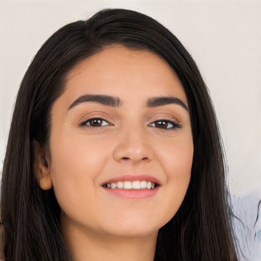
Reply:
[[79, 92], [123, 99], [135, 93], [138, 97], [175, 95], [187, 102], [178, 77], [162, 57], [121, 45], [107, 47], [79, 63], [68, 73], [65, 87], [74, 98]]

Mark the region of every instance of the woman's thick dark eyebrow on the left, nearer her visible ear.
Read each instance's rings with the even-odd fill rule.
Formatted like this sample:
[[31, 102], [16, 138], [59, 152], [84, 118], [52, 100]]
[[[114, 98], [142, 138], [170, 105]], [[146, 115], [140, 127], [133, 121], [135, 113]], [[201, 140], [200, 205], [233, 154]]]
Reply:
[[121, 101], [118, 97], [109, 96], [109, 95], [88, 94], [88, 95], [80, 96], [79, 98], [74, 100], [71, 103], [70, 107], [68, 108], [68, 111], [81, 103], [89, 102], [89, 101], [101, 103], [102, 105], [108, 105], [108, 106], [112, 106], [112, 107], [121, 106]]

